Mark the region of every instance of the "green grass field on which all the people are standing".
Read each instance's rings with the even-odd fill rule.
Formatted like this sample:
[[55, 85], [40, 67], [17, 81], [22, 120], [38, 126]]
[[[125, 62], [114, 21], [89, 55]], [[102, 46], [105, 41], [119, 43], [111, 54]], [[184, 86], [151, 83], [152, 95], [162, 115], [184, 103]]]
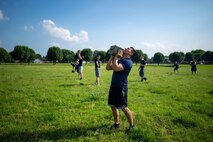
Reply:
[[125, 134], [107, 106], [111, 71], [84, 65], [78, 80], [69, 64], [0, 65], [0, 141], [213, 141], [213, 66], [189, 65], [179, 73], [168, 65], [148, 65], [140, 82], [138, 66], [129, 75], [129, 108], [136, 129]]

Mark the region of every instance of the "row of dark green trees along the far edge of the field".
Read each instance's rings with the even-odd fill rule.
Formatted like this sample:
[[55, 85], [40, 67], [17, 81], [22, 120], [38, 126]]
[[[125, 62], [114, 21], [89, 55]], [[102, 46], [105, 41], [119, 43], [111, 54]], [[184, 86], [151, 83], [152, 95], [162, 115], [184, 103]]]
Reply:
[[[104, 63], [110, 58], [108, 51], [92, 51], [90, 48], [85, 48], [81, 51], [81, 54], [84, 56], [86, 62], [93, 61], [97, 55], [100, 55], [101, 61]], [[7, 52], [4, 48], [0, 48], [0, 63], [12, 63], [18, 61], [20, 63], [30, 64], [33, 63], [35, 59], [40, 59], [44, 62], [53, 62], [54, 64], [57, 62], [71, 63], [75, 61], [76, 54], [77, 52], [75, 53], [68, 49], [52, 46], [49, 47], [47, 55], [42, 57], [40, 54], [36, 54], [35, 51], [28, 46], [16, 45], [11, 52]], [[189, 63], [192, 60], [210, 64], [213, 63], [213, 51], [204, 51], [202, 49], [192, 50], [186, 54], [183, 52], [173, 52], [169, 54], [169, 56], [164, 56], [163, 53], [156, 52], [151, 59], [149, 59], [148, 55], [143, 53], [142, 50], [136, 49], [136, 53], [132, 56], [132, 61], [136, 64], [139, 63], [141, 56], [144, 56], [144, 59], [147, 60], [147, 62], [157, 64], [170, 62]]]

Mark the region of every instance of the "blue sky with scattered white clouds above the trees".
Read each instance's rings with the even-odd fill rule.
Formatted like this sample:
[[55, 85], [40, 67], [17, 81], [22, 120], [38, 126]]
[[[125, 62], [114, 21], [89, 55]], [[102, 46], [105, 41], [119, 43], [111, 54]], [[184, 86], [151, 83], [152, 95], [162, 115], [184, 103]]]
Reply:
[[0, 47], [213, 50], [212, 0], [0, 0]]

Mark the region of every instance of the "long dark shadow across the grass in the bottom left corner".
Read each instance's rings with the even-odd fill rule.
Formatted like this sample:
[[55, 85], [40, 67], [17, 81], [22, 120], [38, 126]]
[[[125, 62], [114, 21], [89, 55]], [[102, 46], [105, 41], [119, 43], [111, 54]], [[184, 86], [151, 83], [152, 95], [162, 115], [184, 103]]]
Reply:
[[100, 129], [104, 129], [106, 126], [101, 127], [72, 127], [69, 129], [57, 129], [47, 131], [35, 131], [35, 132], [12, 132], [9, 134], [1, 134], [0, 141], [58, 141], [58, 140], [78, 140], [80, 137], [95, 137], [99, 134]]

